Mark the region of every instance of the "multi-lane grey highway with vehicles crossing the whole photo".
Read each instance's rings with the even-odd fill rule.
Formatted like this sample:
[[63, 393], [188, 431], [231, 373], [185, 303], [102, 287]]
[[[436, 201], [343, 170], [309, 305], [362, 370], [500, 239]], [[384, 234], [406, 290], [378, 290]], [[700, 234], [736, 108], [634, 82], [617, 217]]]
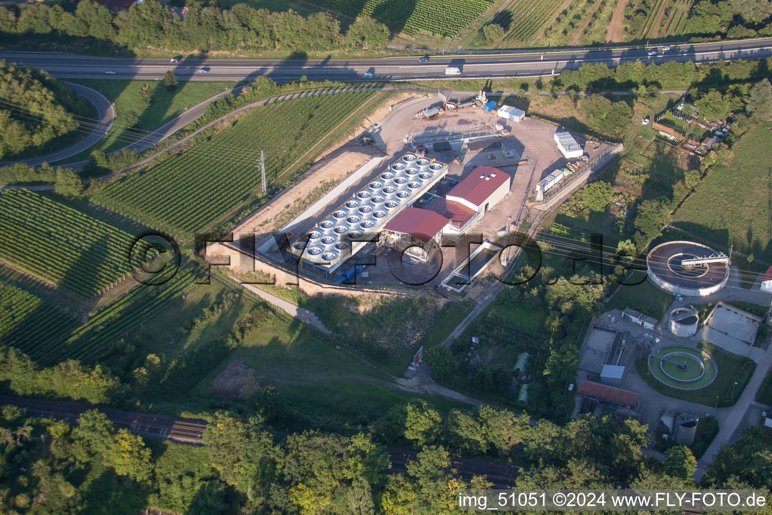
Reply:
[[[649, 56], [656, 50], [656, 56]], [[560, 49], [552, 51], [519, 51], [506, 55], [432, 56], [428, 63], [418, 57], [384, 59], [124, 59], [76, 56], [72, 54], [0, 53], [11, 63], [45, 69], [52, 76], [69, 79], [162, 79], [168, 70], [180, 80], [252, 80], [267, 75], [277, 83], [299, 80], [394, 81], [444, 79], [445, 67], [457, 66], [460, 76], [448, 78], [488, 79], [516, 76], [549, 76], [564, 69], [577, 69], [584, 63], [618, 66], [641, 59], [644, 63], [677, 61], [707, 63], [719, 59], [759, 59], [772, 56], [772, 38], [744, 39], [710, 43], [671, 44], [662, 46], [624, 46], [609, 49]], [[206, 73], [200, 73], [199, 70]], [[107, 72], [114, 72], [108, 74]], [[371, 71], [373, 76], [365, 77]]]

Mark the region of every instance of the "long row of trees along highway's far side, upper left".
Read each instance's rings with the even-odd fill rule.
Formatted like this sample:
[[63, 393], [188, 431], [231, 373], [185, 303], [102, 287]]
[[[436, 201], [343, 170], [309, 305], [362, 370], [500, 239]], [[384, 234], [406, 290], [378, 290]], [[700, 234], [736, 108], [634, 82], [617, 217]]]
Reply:
[[369, 17], [357, 19], [344, 34], [340, 22], [327, 12], [303, 17], [292, 9], [272, 13], [246, 4], [229, 9], [194, 5], [182, 17], [157, 0], [135, 3], [116, 15], [93, 0], [64, 6], [0, 6], [0, 35], [5, 41], [32, 34], [180, 52], [377, 48], [389, 38], [386, 26]]

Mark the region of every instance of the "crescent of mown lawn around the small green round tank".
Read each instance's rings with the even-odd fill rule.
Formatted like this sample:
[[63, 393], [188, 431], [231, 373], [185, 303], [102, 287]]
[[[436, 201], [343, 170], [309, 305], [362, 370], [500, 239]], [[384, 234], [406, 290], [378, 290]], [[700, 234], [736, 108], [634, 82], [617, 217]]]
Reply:
[[[732, 354], [731, 352], [724, 351], [723, 349], [704, 341], [699, 347], [703, 348], [703, 350], [707, 351], [708, 354], [713, 357], [713, 361], [716, 361], [719, 368], [716, 380], [713, 381], [712, 385], [708, 385], [705, 388], [700, 388], [699, 390], [678, 390], [663, 385], [648, 374], [646, 357], [638, 357], [635, 360], [635, 370], [638, 371], [638, 375], [646, 381], [647, 385], [654, 388], [656, 391], [659, 391], [662, 395], [678, 398], [682, 401], [697, 402], [706, 406], [716, 405], [716, 398], [718, 398], [719, 408], [733, 405], [748, 384], [750, 376], [756, 368], [756, 364], [753, 363], [750, 358]], [[750, 371], [750, 374], [743, 373], [743, 368], [746, 372]], [[735, 381], [738, 385], [734, 388], [733, 397], [730, 398]]]

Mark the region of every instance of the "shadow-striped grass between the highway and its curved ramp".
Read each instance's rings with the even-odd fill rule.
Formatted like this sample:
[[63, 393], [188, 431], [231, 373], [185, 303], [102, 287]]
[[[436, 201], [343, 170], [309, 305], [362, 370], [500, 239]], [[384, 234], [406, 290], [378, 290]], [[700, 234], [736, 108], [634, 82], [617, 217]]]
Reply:
[[[174, 90], [167, 90], [160, 80], [83, 79], [73, 82], [97, 90], [111, 100], [115, 104], [115, 122], [99, 143], [67, 161], [87, 159], [95, 150], [107, 153], [125, 147], [144, 136], [146, 131], [156, 130], [168, 120], [184, 113], [185, 109], [235, 86], [235, 83], [230, 82], [180, 81]], [[145, 83], [155, 93], [153, 102], [147, 107], [142, 105], [140, 97], [140, 89]], [[139, 118], [135, 127], [125, 127], [123, 120], [129, 111], [133, 111]]]

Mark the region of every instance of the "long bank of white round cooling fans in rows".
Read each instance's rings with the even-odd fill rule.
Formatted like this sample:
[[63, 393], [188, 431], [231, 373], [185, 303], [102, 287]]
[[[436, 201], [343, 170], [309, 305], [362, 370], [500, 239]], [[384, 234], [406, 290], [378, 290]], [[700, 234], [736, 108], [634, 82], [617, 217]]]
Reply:
[[289, 252], [332, 272], [448, 173], [448, 165], [408, 153], [354, 193], [299, 239]]

